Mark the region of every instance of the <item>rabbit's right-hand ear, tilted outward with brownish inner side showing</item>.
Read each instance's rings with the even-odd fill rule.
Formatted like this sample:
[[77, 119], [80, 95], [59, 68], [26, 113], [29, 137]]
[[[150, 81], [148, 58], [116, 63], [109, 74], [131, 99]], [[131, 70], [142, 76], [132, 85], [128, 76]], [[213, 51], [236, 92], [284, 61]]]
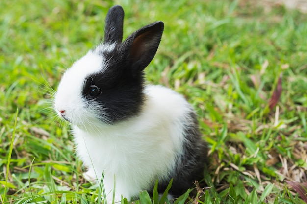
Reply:
[[132, 72], [142, 71], [153, 60], [164, 30], [164, 23], [159, 21], [132, 33], [123, 43], [124, 53], [132, 61]]

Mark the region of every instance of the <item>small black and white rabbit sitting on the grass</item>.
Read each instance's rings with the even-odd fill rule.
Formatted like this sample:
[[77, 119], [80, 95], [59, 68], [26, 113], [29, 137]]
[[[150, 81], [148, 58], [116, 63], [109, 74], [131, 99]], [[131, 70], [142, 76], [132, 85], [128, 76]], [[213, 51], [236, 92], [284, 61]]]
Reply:
[[203, 178], [206, 145], [195, 111], [184, 97], [162, 86], [145, 85], [144, 68], [161, 41], [163, 22], [132, 33], [124, 42], [124, 10], [106, 15], [104, 42], [77, 60], [63, 75], [55, 110], [72, 124], [85, 176], [101, 179], [108, 203], [130, 199], [141, 190], [178, 196]]

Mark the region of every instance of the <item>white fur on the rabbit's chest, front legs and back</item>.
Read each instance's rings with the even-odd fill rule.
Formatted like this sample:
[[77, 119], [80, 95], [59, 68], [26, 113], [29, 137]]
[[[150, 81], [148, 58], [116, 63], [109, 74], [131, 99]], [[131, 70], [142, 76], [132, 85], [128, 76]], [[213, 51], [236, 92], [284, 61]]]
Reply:
[[[162, 86], [147, 86], [145, 93], [144, 110], [137, 117], [116, 125], [102, 125], [90, 117], [89, 127], [73, 125], [77, 155], [88, 167], [85, 176], [99, 181], [104, 172], [108, 203], [112, 202], [114, 175], [115, 201], [120, 201], [121, 195], [130, 199], [152, 187], [156, 179], [166, 179], [176, 157], [182, 154], [184, 121], [190, 105], [181, 95]], [[71, 107], [69, 111], [75, 109]], [[66, 116], [74, 120], [77, 114]]]

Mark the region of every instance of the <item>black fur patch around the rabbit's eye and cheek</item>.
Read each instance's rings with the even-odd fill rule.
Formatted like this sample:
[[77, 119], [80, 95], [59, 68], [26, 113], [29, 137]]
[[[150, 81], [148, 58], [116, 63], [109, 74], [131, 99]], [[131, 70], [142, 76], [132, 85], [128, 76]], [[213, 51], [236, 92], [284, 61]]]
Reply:
[[[82, 90], [87, 104], [91, 106], [93, 102], [98, 103], [97, 115], [103, 122], [110, 124], [140, 113], [145, 98], [144, 74], [141, 72], [132, 76], [132, 63], [128, 56], [123, 58], [118, 46], [111, 52], [100, 52], [107, 62], [106, 68], [87, 76]], [[102, 93], [97, 97], [89, 95], [91, 85], [99, 87]]]

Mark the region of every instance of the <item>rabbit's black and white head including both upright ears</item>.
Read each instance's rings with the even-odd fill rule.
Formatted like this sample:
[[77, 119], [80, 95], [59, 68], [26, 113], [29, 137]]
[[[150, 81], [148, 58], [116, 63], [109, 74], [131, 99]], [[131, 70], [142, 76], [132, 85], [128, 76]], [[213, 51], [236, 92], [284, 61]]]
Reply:
[[113, 6], [103, 43], [77, 60], [58, 86], [56, 112], [81, 129], [127, 120], [142, 111], [143, 70], [157, 51], [164, 24], [144, 26], [122, 42], [123, 20], [123, 8]]

